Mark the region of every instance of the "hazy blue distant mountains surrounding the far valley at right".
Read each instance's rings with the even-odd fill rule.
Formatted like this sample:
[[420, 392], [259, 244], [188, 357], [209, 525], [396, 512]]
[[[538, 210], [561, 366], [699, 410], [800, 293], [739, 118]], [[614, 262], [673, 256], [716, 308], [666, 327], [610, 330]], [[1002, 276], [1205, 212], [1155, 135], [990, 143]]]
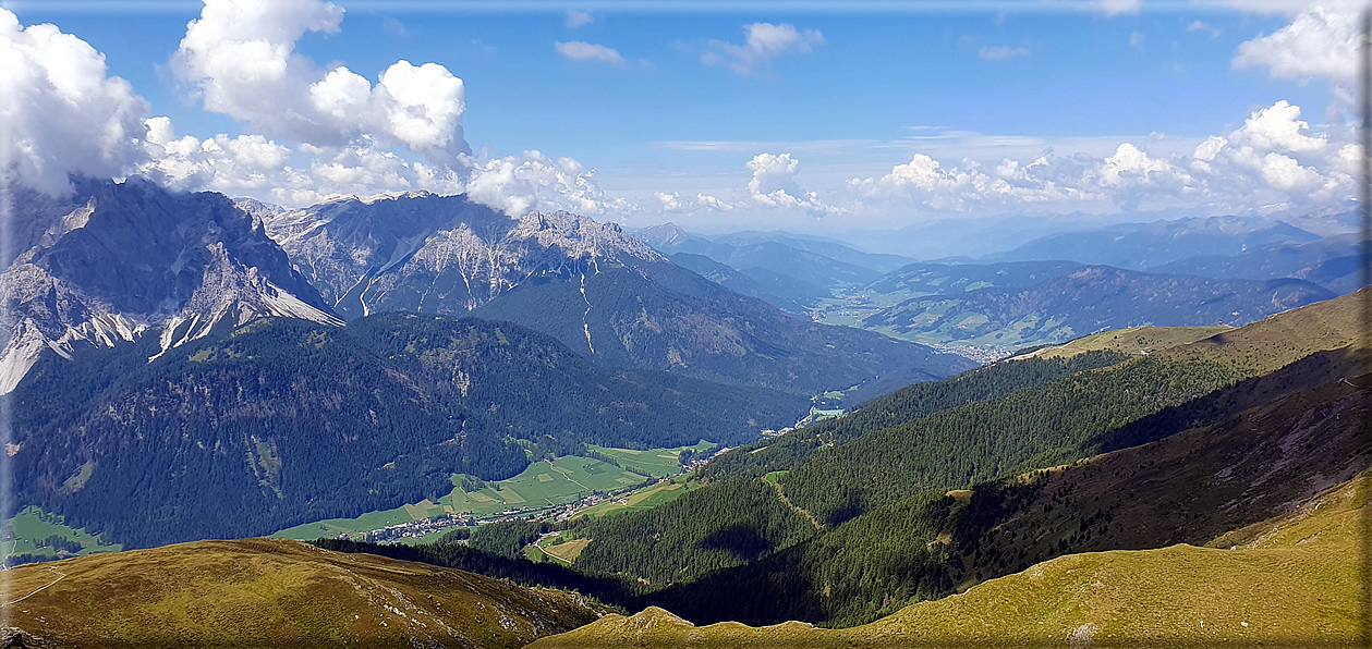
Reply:
[[[1297, 221], [1320, 232], [1346, 229], [1351, 224], [1346, 214]], [[944, 225], [948, 232], [960, 232], [956, 224]], [[1019, 226], [1007, 222], [1003, 232], [1015, 228]], [[930, 231], [929, 236], [948, 232]], [[889, 263], [903, 259], [899, 255], [873, 255], [834, 241], [786, 233], [741, 232], [707, 237], [674, 224], [634, 233], [670, 252], [679, 265], [782, 310], [926, 344], [952, 346], [978, 358], [1100, 329], [1202, 324], [1198, 320], [1202, 314], [1213, 316], [1214, 321], [1242, 324], [1292, 305], [1354, 291], [1362, 283], [1356, 235], [1321, 237], [1288, 222], [1259, 217], [1113, 224], [1044, 236], [982, 259], [915, 262], [895, 269]], [[1048, 285], [1050, 280], [1085, 266], [1100, 270], [1076, 276], [1070, 303], [1050, 306], [1044, 302], [1045, 294], [1032, 296], [1029, 292], [1014, 298], [997, 298], [996, 292], [963, 295], [989, 288], [1029, 290], [1040, 284], [1045, 292], [1055, 291], [1065, 287]], [[1106, 272], [1107, 266], [1137, 272], [1128, 276], [1132, 298], [1118, 295], [1124, 276]], [[1302, 281], [1270, 285], [1217, 281], [1287, 279]], [[1270, 291], [1265, 292], [1264, 287]], [[1295, 291], [1295, 287], [1303, 288]], [[1144, 294], [1151, 298], [1140, 302]], [[1221, 299], [1221, 294], [1227, 296]], [[940, 295], [947, 298], [936, 299]], [[1191, 299], [1196, 302], [1188, 302]], [[1092, 316], [1084, 316], [1087, 313]], [[1067, 320], [1072, 324], [1066, 324]]]

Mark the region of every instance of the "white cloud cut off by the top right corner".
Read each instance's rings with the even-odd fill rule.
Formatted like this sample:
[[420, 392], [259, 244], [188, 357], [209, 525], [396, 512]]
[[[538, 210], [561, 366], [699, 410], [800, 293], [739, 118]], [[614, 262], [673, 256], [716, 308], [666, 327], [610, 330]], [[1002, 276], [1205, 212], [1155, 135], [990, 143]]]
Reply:
[[1357, 10], [1349, 5], [1309, 5], [1290, 25], [1240, 44], [1232, 66], [1266, 67], [1280, 80], [1324, 78], [1335, 97], [1351, 106], [1358, 69], [1357, 16]]

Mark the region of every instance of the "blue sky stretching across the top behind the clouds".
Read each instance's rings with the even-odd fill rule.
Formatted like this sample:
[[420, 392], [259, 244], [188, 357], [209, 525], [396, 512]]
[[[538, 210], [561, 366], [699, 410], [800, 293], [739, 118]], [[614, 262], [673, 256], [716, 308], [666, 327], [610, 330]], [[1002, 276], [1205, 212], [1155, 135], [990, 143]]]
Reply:
[[[414, 66], [438, 63], [461, 78], [465, 91], [461, 139], [473, 158], [453, 162], [429, 155], [429, 163], [458, 169], [453, 182], [435, 189], [466, 187], [462, 184], [475, 178], [472, 169], [490, 170], [491, 162], [502, 158], [523, 161], [525, 170], [538, 176], [539, 169], [556, 166], [552, 161], [565, 156], [579, 166], [564, 169], [563, 176], [594, 184], [593, 196], [587, 199], [583, 192], [571, 207], [600, 210], [601, 215], [637, 225], [667, 218], [694, 218], [704, 229], [733, 224], [804, 225], [820, 218], [879, 225], [895, 218], [895, 213], [992, 214], [1017, 207], [1007, 204], [1008, 199], [982, 202], [966, 193], [970, 185], [955, 182], [959, 173], [975, 176], [977, 169], [986, 172], [1006, 159], [1028, 166], [1051, 152], [1048, 162], [1055, 169], [1076, 169], [1076, 165], [1083, 169], [1080, 173], [1096, 178], [1109, 173], [1092, 172], [1087, 158], [1103, 169], [1122, 143], [1132, 143], [1152, 161], [1173, 156], [1170, 167], [1185, 169], [1194, 166], [1199, 143], [1243, 128], [1246, 119], [1279, 102], [1299, 107], [1299, 119], [1308, 122], [1303, 133], [1325, 137], [1329, 145], [1314, 147], [1323, 151], [1320, 159], [1313, 158], [1312, 147], [1273, 151], [1290, 154], [1299, 169], [1327, 176], [1334, 172], [1324, 167], [1338, 166], [1331, 162], [1336, 158], [1332, 152], [1340, 150], [1340, 133], [1346, 130], [1340, 121], [1347, 104], [1334, 92], [1342, 73], [1321, 69], [1281, 73], [1279, 49], [1288, 44], [1261, 41], [1283, 30], [1294, 37], [1318, 38], [1318, 33], [1295, 30], [1309, 10], [1292, 7], [1303, 4], [1246, 12], [1144, 1], [1118, 14], [1096, 4], [1052, 12], [1004, 11], [1013, 10], [1013, 4], [956, 11], [941, 4], [907, 3], [886, 7], [899, 11], [859, 12], [814, 5], [786, 11], [777, 4], [741, 4], [727, 12], [686, 11], [676, 5], [654, 12], [591, 5], [584, 14], [589, 22], [569, 19], [582, 7], [554, 3], [521, 5], [521, 11], [504, 14], [490, 5], [479, 5], [482, 11], [457, 11], [435, 3], [333, 4], [344, 12], [332, 33], [306, 29], [294, 43], [292, 60], [305, 62], [302, 84], [338, 64], [377, 84], [380, 73], [402, 59]], [[192, 74], [178, 69], [173, 58], [187, 36], [187, 23], [200, 16], [199, 3], [3, 5], [23, 26], [54, 23], [103, 54], [107, 74], [128, 80], [147, 102], [147, 117], [170, 118], [178, 137], [261, 134], [289, 150], [288, 165], [296, 169], [336, 154], [327, 144], [311, 143], [299, 129], [265, 126], [261, 115], [215, 108], [198, 96], [204, 88], [198, 84], [207, 82], [209, 73], [203, 70], [213, 66], [202, 66], [200, 73]], [[583, 23], [573, 26], [573, 22]], [[771, 54], [745, 52], [752, 59], [740, 59], [738, 48], [746, 49], [749, 26], [756, 25], [792, 29], [793, 36], [786, 40], [782, 34]], [[1266, 54], [1254, 55], [1257, 63], [1240, 64], [1240, 49], [1255, 40], [1266, 47]], [[558, 43], [598, 47], [594, 51], [601, 58], [575, 60], [558, 51]], [[615, 54], [605, 54], [609, 49]], [[235, 92], [252, 89], [240, 85]], [[370, 137], [361, 126], [342, 132], [350, 133], [348, 137]], [[1247, 141], [1244, 134], [1225, 137]], [[425, 161], [425, 155], [403, 141], [377, 148], [405, 162]], [[525, 151], [539, 151], [546, 158], [530, 162]], [[770, 158], [766, 165], [756, 162], [763, 154], [786, 158], [779, 163]], [[938, 185], [933, 180], [903, 184], [900, 177], [910, 176], [896, 173], [896, 167], [918, 162], [921, 154], [940, 163], [938, 178], [951, 184]], [[1190, 158], [1181, 162], [1176, 156]], [[750, 161], [756, 163], [749, 166]], [[1242, 161], [1236, 165], [1243, 166]], [[1195, 169], [1185, 172], [1190, 177], [1177, 181], [1180, 185], [1155, 178], [1159, 169], [1144, 161], [1126, 170], [1126, 178], [1137, 173], [1144, 184], [1157, 185], [1151, 188], [1154, 195], [1142, 185], [1131, 185], [1121, 193], [1117, 189], [1122, 185], [1117, 182], [1106, 193], [1083, 189], [1078, 198], [1039, 196], [1034, 210], [1166, 209], [1179, 204], [1185, 187], [1192, 193], [1203, 189], [1205, 199], [1196, 199], [1195, 204], [1206, 211], [1262, 209], [1233, 198], [1251, 191], [1213, 188]], [[1056, 187], [1069, 182], [1062, 173], [1055, 172]], [[1258, 176], [1276, 177], [1264, 173]], [[892, 177], [882, 182], [888, 174]], [[310, 182], [302, 178], [298, 174], [294, 182], [299, 187]], [[1044, 178], [1025, 177], [1021, 184], [1043, 189]], [[535, 177], [524, 180], [525, 185], [558, 184]], [[748, 188], [750, 180], [756, 187]], [[863, 185], [863, 181], [870, 182]], [[247, 187], [204, 173], [182, 184], [202, 188], [189, 187], [193, 182], [285, 203], [314, 196], [280, 191], [273, 195], [268, 187]], [[567, 182], [572, 181], [563, 178]], [[1277, 185], [1299, 188], [1295, 193], [1303, 196], [1316, 187], [1310, 182]], [[361, 182], [355, 191], [421, 184], [383, 185]], [[318, 193], [347, 189], [320, 182]], [[513, 185], [491, 191], [506, 189], [531, 192]], [[528, 200], [502, 206], [512, 211], [560, 206], [557, 191], [553, 188], [542, 198], [535, 196], [535, 187]], [[768, 204], [766, 196], [777, 196], [778, 191], [785, 196]], [[670, 209], [672, 200], [659, 195], [686, 196], [691, 202]], [[696, 200], [697, 196], [716, 198], [733, 207], [707, 209], [708, 202]], [[1298, 202], [1262, 200], [1268, 202], [1264, 204], [1286, 200], [1292, 210], [1316, 207], [1301, 196]], [[1339, 196], [1336, 191], [1325, 192], [1321, 200], [1336, 203]]]

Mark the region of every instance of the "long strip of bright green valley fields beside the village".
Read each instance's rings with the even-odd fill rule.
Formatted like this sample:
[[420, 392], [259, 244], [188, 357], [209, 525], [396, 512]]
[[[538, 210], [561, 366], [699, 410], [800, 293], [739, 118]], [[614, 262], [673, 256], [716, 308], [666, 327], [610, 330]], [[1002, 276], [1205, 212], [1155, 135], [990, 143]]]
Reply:
[[[681, 472], [679, 457], [682, 450], [707, 450], [713, 446], [709, 442], [678, 449], [648, 450], [593, 446], [594, 451], [615, 460], [620, 467], [579, 456], [560, 457], [552, 462], [541, 460], [530, 464], [528, 468], [514, 477], [486, 483], [484, 487], [475, 491], [464, 491], [460, 486], [464, 482], [462, 476], [453, 476], [453, 491], [439, 498], [438, 502], [425, 499], [395, 509], [368, 512], [355, 519], [329, 519], [306, 523], [281, 530], [273, 534], [273, 536], [309, 541], [321, 536], [333, 538], [340, 534], [361, 534], [453, 513], [486, 517], [513, 509], [546, 509], [576, 502], [591, 495], [594, 491], [605, 493], [649, 480], [649, 477], [634, 471], [648, 473], [653, 477], [675, 475]], [[436, 539], [438, 536], [438, 534], [429, 534], [425, 539]], [[418, 539], [406, 541], [418, 542]]]

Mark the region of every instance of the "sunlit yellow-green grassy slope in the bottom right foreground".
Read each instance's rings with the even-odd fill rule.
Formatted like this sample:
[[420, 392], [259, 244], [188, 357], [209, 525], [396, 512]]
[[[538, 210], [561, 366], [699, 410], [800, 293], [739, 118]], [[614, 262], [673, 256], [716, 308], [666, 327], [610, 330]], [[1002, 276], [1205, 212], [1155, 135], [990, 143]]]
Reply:
[[[794, 622], [697, 628], [649, 608], [631, 617], [608, 615], [531, 648], [1351, 646], [1367, 499], [1361, 476], [1255, 526], [1251, 541], [1232, 549], [1070, 554], [853, 628]], [[1264, 534], [1253, 538], [1257, 530]]]

